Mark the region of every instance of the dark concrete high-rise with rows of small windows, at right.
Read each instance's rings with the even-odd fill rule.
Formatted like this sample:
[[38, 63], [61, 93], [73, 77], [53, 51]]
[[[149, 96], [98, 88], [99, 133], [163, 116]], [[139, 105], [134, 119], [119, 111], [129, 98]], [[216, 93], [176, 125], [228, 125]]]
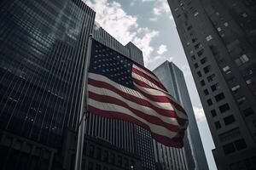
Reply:
[[256, 168], [256, 2], [168, 0], [219, 170]]

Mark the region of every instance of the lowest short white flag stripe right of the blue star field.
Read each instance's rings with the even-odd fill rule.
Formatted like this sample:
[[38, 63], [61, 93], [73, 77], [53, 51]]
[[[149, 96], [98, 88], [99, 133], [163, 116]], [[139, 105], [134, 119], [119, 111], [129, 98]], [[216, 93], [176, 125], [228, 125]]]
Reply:
[[[170, 95], [165, 94], [162, 91], [155, 90], [153, 88], [143, 88], [140, 85], [137, 85], [137, 83], [135, 83], [135, 82], [134, 82], [134, 85], [146, 94], [149, 94], [149, 95], [154, 94], [154, 95], [158, 95], [158, 96], [167, 97], [169, 99], [172, 99], [172, 97]], [[172, 101], [174, 101], [174, 99], [172, 99]], [[171, 110], [176, 111], [178, 117], [183, 118], [183, 119], [188, 119], [188, 116], [186, 116], [182, 111], [178, 111], [177, 108], [175, 107], [175, 105], [172, 105]]]

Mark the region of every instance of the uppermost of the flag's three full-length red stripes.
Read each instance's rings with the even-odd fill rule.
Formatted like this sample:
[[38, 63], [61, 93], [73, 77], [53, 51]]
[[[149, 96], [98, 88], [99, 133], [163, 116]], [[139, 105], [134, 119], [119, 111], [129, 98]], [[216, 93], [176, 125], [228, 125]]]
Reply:
[[[132, 102], [135, 102], [139, 105], [144, 105], [147, 107], [150, 107], [151, 109], [153, 109], [154, 111], [156, 111], [157, 113], [159, 113], [160, 115], [163, 116], [168, 116], [168, 117], [174, 117], [177, 118], [177, 122], [180, 123], [181, 126], [184, 125], [185, 122], [187, 122], [186, 119], [177, 117], [176, 112], [175, 111], [170, 111], [170, 110], [165, 110], [165, 109], [160, 109], [154, 105], [152, 105], [150, 102], [148, 102], [146, 99], [141, 99], [138, 97], [135, 97], [131, 94], [127, 94], [121, 90], [119, 90], [118, 88], [113, 87], [113, 85], [108, 84], [107, 82], [102, 82], [102, 81], [96, 81], [94, 79], [89, 78], [88, 79], [88, 83], [92, 86], [95, 86], [97, 88], [107, 88], [108, 90], [113, 91], [116, 94], [119, 94], [120, 96], [122, 96], [125, 99], [129, 99]], [[139, 92], [138, 92], [139, 93]]]

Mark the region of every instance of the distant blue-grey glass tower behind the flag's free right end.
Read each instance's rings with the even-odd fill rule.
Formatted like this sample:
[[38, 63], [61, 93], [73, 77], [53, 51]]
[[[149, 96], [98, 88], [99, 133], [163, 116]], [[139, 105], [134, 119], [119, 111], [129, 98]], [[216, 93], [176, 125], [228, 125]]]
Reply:
[[[153, 72], [160, 79], [160, 82], [165, 85], [172, 96], [177, 99], [181, 105], [183, 105], [183, 108], [189, 115], [189, 127], [183, 139], [183, 149], [166, 147], [162, 144], [154, 142], [154, 150], [157, 155], [156, 161], [158, 162], [158, 169], [197, 169], [194, 153], [195, 150], [193, 150], [193, 141], [191, 140], [191, 136], [194, 136], [196, 139], [196, 144], [198, 143], [198, 139], [200, 140], [200, 143], [194, 146], [196, 150], [201, 148], [203, 152], [203, 148], [202, 145], [200, 145], [201, 138], [195, 122], [195, 116], [189, 99], [189, 93], [183, 77], [183, 72], [180, 71], [176, 65], [168, 61], [158, 66]], [[195, 129], [195, 132], [192, 133], [192, 129]], [[203, 156], [199, 157], [198, 159], [200, 160], [201, 165], [203, 165], [203, 162], [205, 161], [206, 166], [204, 169], [207, 169], [208, 167], [206, 157]]]

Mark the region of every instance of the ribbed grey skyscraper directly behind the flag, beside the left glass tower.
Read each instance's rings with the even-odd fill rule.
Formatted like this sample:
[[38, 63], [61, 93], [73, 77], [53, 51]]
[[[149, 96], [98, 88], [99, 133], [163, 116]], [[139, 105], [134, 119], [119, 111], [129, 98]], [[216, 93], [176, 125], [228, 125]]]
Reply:
[[[98, 42], [143, 65], [143, 52], [132, 42], [123, 46], [97, 23], [93, 36]], [[153, 140], [151, 134], [143, 127], [131, 122], [96, 116], [93, 113], [89, 114], [87, 122], [85, 133], [105, 139], [123, 150], [141, 156], [142, 168], [154, 170]]]

